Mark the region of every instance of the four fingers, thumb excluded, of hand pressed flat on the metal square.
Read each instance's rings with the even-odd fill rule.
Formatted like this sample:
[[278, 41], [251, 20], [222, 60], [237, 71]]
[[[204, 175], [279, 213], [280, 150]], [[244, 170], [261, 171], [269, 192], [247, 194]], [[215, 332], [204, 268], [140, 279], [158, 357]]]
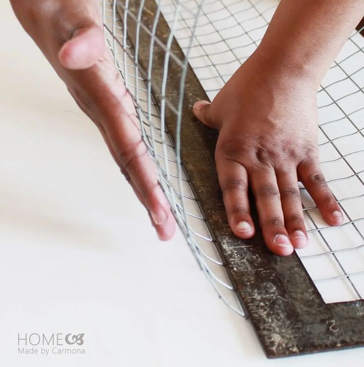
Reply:
[[[267, 246], [274, 253], [285, 256], [291, 254], [294, 247], [308, 245], [295, 165], [286, 165], [276, 171], [267, 166], [250, 170], [248, 174], [243, 165], [235, 161], [217, 159], [216, 165], [228, 222], [236, 236], [246, 239], [254, 235], [247, 196], [249, 176]], [[318, 163], [303, 162], [298, 172], [326, 222], [342, 224], [342, 212]]]

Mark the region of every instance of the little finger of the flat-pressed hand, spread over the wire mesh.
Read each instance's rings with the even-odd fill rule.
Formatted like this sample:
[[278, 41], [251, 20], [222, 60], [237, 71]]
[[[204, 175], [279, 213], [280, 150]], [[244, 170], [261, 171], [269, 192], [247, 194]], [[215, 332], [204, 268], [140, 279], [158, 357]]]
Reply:
[[344, 217], [337, 204], [317, 160], [303, 161], [297, 168], [300, 181], [315, 201], [322, 218], [330, 225], [340, 225]]

